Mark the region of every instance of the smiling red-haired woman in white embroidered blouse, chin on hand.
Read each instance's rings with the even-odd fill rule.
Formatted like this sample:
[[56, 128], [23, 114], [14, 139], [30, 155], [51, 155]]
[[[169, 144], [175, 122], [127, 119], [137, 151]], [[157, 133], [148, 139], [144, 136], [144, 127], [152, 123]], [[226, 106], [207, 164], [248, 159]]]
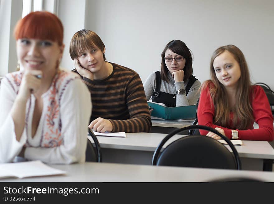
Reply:
[[19, 20], [14, 35], [23, 70], [1, 81], [0, 163], [16, 156], [84, 162], [91, 98], [78, 75], [59, 68], [61, 21], [50, 12], [31, 12]]

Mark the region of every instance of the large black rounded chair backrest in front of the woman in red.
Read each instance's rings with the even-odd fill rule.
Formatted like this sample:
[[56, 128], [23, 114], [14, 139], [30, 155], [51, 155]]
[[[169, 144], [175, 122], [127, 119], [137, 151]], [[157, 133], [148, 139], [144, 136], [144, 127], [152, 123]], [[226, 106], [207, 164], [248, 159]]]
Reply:
[[[213, 138], [191, 135], [170, 143], [160, 154], [160, 150], [169, 138], [189, 129], [204, 129], [214, 132], [228, 143], [233, 153], [229, 152], [222, 143]], [[154, 151], [152, 165], [241, 169], [239, 154], [231, 141], [217, 130], [203, 125], [191, 125], [173, 130]]]

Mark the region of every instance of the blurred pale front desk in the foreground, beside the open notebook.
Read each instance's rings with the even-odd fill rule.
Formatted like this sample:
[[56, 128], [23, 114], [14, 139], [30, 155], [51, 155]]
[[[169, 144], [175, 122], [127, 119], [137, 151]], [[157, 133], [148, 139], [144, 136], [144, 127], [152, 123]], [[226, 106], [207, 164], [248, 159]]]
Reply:
[[209, 182], [232, 177], [274, 182], [273, 172], [86, 162], [50, 165], [66, 175], [1, 179], [1, 182]]

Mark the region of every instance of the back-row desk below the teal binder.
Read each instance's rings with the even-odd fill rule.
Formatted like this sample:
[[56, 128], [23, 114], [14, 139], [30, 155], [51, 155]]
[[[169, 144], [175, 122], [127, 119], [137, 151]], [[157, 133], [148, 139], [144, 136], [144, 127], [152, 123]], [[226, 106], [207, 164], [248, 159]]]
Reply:
[[192, 125], [195, 119], [182, 119], [182, 120], [164, 120], [161, 118], [151, 117], [152, 126], [155, 127], [169, 127], [169, 128], [182, 128]]

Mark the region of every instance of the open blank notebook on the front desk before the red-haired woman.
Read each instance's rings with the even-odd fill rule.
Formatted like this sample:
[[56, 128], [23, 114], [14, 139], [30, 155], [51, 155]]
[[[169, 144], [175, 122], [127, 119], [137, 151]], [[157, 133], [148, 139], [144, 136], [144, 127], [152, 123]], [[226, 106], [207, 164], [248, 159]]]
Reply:
[[51, 168], [41, 161], [0, 164], [0, 179], [12, 177], [22, 179], [26, 177], [59, 175], [65, 173], [65, 171]]

